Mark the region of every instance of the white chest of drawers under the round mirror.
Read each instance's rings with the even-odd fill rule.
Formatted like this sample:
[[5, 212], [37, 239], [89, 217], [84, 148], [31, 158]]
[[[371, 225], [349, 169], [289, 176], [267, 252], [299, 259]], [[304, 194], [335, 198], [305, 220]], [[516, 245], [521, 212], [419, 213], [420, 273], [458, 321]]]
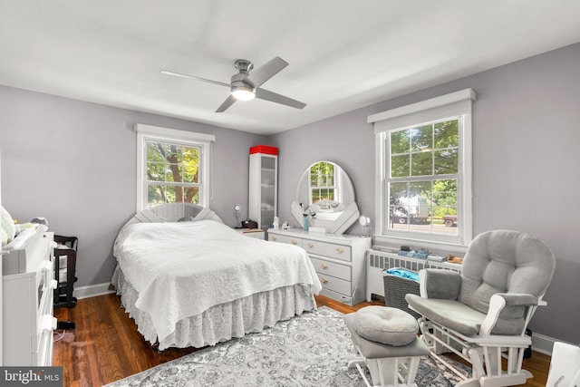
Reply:
[[268, 240], [303, 247], [323, 285], [320, 294], [348, 305], [364, 301], [366, 293], [365, 252], [370, 237], [268, 229]]

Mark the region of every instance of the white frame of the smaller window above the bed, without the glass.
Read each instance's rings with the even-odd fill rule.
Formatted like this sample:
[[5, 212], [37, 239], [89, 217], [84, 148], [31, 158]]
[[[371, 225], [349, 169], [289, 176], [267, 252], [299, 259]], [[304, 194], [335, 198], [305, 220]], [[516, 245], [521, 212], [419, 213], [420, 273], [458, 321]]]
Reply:
[[213, 134], [179, 131], [177, 129], [138, 123], [134, 126], [137, 132], [137, 212], [147, 208], [147, 141], [169, 142], [173, 144], [198, 147], [200, 150], [198, 175], [199, 205], [209, 207], [211, 192], [211, 144], [216, 140]]

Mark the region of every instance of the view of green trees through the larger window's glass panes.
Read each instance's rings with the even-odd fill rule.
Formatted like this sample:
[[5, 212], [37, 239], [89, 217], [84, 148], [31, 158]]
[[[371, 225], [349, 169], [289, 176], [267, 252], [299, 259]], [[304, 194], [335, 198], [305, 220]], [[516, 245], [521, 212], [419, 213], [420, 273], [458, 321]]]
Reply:
[[[459, 118], [389, 133], [388, 228], [457, 235]], [[456, 219], [455, 224], [460, 219]]]

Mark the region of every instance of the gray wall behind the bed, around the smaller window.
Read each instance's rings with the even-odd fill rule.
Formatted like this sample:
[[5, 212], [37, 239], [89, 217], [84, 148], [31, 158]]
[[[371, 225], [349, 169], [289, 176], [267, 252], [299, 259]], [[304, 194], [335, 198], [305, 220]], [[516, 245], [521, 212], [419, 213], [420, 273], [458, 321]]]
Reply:
[[216, 135], [210, 207], [230, 226], [234, 204], [247, 216], [248, 150], [264, 137], [0, 86], [2, 205], [79, 237], [77, 286], [111, 280], [113, 240], [135, 213], [135, 123]]

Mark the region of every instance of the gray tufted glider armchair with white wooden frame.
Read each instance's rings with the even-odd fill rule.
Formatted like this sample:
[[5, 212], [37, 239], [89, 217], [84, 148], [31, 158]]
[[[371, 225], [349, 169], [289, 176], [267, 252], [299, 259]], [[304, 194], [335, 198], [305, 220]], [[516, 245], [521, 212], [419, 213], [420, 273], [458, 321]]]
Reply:
[[526, 328], [537, 306], [546, 305], [555, 266], [541, 240], [495, 230], [473, 239], [460, 274], [420, 270], [420, 295], [405, 299], [421, 315], [431, 354], [444, 362], [439, 354], [452, 352], [471, 363], [471, 377], [457, 386], [512, 386], [532, 376], [522, 369], [531, 344]]

